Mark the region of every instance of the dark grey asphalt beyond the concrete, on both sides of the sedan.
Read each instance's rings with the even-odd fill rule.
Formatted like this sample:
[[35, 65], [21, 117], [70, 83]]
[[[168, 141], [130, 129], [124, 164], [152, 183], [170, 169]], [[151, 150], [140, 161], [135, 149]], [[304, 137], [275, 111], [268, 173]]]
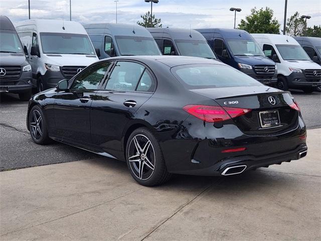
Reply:
[[[321, 93], [292, 91], [308, 129], [321, 127]], [[48, 146], [32, 142], [26, 128], [28, 102], [18, 95], [0, 95], [0, 171], [93, 159], [100, 156], [54, 142]]]

